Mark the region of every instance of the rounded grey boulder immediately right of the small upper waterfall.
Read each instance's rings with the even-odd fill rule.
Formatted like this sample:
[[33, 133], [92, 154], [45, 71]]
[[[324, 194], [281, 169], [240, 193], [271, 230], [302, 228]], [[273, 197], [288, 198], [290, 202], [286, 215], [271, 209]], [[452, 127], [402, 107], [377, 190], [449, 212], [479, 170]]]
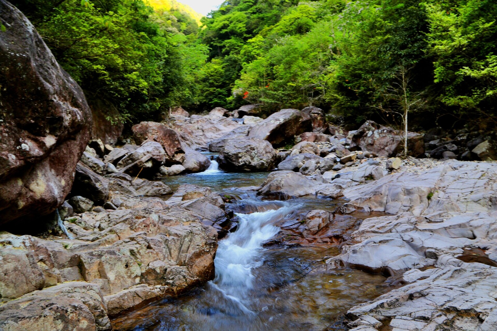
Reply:
[[221, 167], [240, 171], [268, 171], [275, 161], [276, 151], [269, 142], [246, 137], [228, 141], [218, 157]]

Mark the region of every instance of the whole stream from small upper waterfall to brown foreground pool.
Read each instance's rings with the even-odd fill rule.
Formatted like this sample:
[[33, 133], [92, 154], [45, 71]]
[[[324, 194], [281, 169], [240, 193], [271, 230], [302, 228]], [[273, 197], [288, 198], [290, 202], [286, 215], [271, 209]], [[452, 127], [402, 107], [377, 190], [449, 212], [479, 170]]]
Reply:
[[344, 268], [327, 270], [336, 245], [267, 245], [285, 221], [341, 202], [310, 198], [264, 201], [237, 188], [260, 185], [267, 172], [227, 173], [217, 162], [204, 172], [163, 179], [173, 190], [189, 183], [238, 197], [230, 208], [239, 225], [219, 241], [215, 278], [179, 298], [165, 298], [113, 321], [114, 330], [347, 330], [340, 319], [354, 305], [389, 289], [385, 277]]

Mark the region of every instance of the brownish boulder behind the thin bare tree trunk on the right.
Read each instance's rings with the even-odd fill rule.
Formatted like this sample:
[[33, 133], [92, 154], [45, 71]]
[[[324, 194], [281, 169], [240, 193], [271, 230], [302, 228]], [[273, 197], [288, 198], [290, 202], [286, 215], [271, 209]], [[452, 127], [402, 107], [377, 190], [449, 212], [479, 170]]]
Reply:
[[[363, 151], [382, 157], [395, 157], [404, 151], [404, 132], [366, 121], [352, 136], [352, 143]], [[424, 140], [419, 133], [408, 132], [409, 155], [424, 155]]]

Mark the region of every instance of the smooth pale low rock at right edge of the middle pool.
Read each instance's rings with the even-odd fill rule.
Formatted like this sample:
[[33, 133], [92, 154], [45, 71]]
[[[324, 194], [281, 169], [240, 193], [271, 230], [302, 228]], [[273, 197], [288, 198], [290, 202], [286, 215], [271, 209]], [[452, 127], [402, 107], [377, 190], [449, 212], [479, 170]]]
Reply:
[[308, 179], [299, 172], [291, 170], [280, 170], [271, 172], [262, 187], [258, 190], [259, 195], [288, 199], [309, 194], [316, 194], [318, 183]]

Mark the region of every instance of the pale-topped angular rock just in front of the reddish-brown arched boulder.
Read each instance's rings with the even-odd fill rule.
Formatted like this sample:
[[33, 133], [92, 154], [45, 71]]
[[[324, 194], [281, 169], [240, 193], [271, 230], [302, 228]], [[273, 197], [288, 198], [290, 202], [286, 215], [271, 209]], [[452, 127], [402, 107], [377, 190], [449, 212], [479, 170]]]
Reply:
[[126, 155], [116, 165], [120, 172], [130, 175], [153, 176], [164, 164], [166, 153], [161, 144], [155, 141], [146, 141], [136, 151]]

